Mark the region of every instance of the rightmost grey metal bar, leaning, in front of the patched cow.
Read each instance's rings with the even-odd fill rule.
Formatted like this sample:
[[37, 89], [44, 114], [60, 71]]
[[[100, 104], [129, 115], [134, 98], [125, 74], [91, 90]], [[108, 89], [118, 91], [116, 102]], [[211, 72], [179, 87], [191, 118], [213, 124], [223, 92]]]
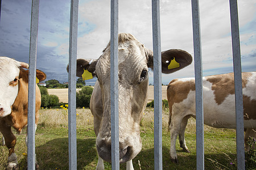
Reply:
[[234, 86], [236, 101], [236, 124], [237, 124], [237, 169], [245, 169], [245, 147], [243, 139], [243, 95], [241, 74], [240, 36], [238, 23], [237, 1], [230, 0], [230, 19], [232, 29], [232, 50], [234, 66]]

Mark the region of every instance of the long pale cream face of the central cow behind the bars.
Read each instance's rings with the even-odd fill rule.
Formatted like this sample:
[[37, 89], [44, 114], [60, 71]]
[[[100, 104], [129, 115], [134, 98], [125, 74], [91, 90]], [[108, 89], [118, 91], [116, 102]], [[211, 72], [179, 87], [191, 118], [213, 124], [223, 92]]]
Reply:
[[[144, 46], [135, 40], [119, 41], [118, 49], [118, 100], [119, 100], [119, 149], [120, 162], [133, 159], [142, 148], [139, 121], [146, 106], [148, 66]], [[110, 48], [96, 65], [98, 83], [104, 105], [100, 131], [96, 139], [98, 153], [111, 161], [110, 131]]]

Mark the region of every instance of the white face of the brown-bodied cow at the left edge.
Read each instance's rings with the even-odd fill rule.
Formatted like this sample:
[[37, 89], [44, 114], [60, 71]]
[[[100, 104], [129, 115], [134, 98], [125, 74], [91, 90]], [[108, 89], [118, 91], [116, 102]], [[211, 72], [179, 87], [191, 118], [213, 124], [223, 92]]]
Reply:
[[0, 118], [11, 113], [11, 105], [18, 94], [19, 67], [26, 63], [0, 57]]

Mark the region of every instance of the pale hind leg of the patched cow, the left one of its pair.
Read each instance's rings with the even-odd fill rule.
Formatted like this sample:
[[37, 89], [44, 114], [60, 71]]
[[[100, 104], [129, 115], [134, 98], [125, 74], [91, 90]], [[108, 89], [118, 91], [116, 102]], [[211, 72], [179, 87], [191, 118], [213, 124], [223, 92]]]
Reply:
[[179, 134], [180, 131], [180, 124], [183, 118], [179, 116], [174, 116], [172, 115], [171, 118], [171, 125], [170, 125], [170, 134], [171, 134], [171, 146], [170, 146], [170, 156], [171, 156], [171, 161], [174, 163], [177, 163], [177, 153], [176, 153], [176, 139], [177, 135]]

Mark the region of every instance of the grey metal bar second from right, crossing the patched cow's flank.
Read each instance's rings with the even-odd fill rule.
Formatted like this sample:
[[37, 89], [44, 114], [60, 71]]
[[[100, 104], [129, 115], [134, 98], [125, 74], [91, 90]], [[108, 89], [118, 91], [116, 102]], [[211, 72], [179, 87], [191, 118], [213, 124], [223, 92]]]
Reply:
[[193, 44], [196, 82], [196, 169], [204, 169], [204, 109], [202, 87], [202, 54], [198, 0], [192, 0]]

